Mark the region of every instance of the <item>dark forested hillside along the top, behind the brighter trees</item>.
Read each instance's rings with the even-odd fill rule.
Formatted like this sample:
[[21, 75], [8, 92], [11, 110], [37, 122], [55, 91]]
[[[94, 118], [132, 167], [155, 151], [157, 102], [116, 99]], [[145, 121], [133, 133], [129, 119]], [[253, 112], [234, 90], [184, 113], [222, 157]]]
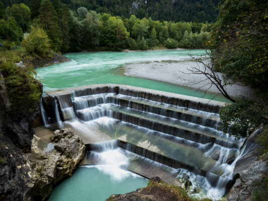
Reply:
[[[31, 0], [3, 0], [5, 7], [12, 4], [24, 3], [27, 6], [36, 4], [41, 1]], [[59, 5], [53, 0], [53, 5]], [[61, 0], [68, 8], [77, 10], [80, 7], [85, 7], [88, 10], [96, 11], [97, 13], [109, 13], [113, 16], [124, 16], [130, 18], [135, 15], [137, 18], [149, 18], [152, 20], [164, 21], [187, 21], [187, 22], [212, 22], [215, 21], [218, 15], [217, 4], [219, 0], [135, 0], [135, 1], [107, 1], [107, 0]], [[31, 8], [31, 7], [30, 7]], [[55, 7], [56, 11], [57, 8]]]

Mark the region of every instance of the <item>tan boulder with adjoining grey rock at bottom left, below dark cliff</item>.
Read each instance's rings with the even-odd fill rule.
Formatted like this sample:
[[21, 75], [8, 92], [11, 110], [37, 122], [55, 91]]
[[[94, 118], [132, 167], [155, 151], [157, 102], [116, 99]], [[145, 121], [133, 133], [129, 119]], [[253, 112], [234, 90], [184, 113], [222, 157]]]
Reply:
[[[3, 141], [4, 140], [4, 141]], [[33, 151], [25, 154], [5, 136], [0, 149], [0, 200], [45, 200], [55, 184], [71, 176], [83, 159], [85, 146], [70, 129], [56, 130], [54, 149], [44, 152], [33, 139]]]

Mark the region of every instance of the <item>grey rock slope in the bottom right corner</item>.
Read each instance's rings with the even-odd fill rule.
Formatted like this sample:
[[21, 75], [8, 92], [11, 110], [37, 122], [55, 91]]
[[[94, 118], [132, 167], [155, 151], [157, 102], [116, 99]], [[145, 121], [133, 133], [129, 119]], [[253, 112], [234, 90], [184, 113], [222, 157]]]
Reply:
[[253, 162], [248, 168], [240, 172], [240, 177], [236, 179], [226, 201], [251, 200], [252, 192], [263, 183], [267, 176], [267, 157]]

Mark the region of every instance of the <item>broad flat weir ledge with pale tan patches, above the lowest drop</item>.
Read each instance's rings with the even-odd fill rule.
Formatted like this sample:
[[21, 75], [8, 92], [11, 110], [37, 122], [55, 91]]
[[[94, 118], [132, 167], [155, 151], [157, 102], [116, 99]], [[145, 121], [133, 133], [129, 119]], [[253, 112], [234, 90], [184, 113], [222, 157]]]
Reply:
[[131, 126], [127, 123], [122, 124], [121, 122], [109, 127], [104, 133], [108, 136], [114, 135], [114, 139], [136, 145], [192, 167], [212, 171], [217, 175], [223, 174], [220, 169], [214, 168], [217, 161], [212, 158], [213, 155], [212, 157], [205, 155], [206, 149], [211, 148], [206, 147], [206, 145], [202, 149], [197, 143], [193, 145], [191, 142], [185, 140], [164, 138], [162, 135], [165, 134], [148, 130], [146, 132], [146, 130], [140, 127]]

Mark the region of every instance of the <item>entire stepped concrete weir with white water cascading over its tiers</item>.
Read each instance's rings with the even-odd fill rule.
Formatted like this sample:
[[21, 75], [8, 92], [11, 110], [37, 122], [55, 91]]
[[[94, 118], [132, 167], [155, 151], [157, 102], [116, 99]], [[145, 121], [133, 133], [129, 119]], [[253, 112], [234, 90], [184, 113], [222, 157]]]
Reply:
[[82, 165], [105, 163], [102, 152], [120, 150], [130, 161], [124, 168], [177, 185], [187, 174], [193, 188], [203, 188], [212, 198], [233, 183], [245, 139], [219, 129], [222, 102], [113, 84], [47, 94], [41, 99], [43, 123], [82, 133], [88, 151]]

